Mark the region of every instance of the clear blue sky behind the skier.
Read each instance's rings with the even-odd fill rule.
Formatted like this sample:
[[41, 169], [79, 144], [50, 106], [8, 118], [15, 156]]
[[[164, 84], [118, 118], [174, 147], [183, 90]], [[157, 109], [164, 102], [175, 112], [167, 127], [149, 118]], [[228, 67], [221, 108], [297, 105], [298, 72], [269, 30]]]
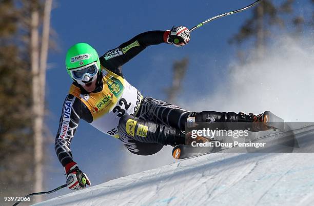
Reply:
[[[55, 1], [51, 24], [57, 33], [59, 51], [50, 51], [47, 71], [47, 125], [52, 133], [58, 128], [64, 98], [71, 84], [64, 58], [67, 49], [77, 42], [86, 42], [103, 55], [136, 34], [150, 30], [167, 30], [173, 25], [188, 28], [220, 13], [242, 8], [253, 1]], [[224, 17], [191, 33], [190, 43], [182, 48], [162, 44], [148, 47], [124, 67], [125, 78], [144, 96], [165, 100], [163, 89], [171, 83], [174, 60], [189, 57], [184, 90], [180, 99], [187, 102], [210, 94], [215, 83], [224, 80], [230, 60], [235, 57], [235, 46], [228, 39], [235, 34], [251, 11]], [[189, 109], [189, 108], [186, 108]], [[208, 108], [215, 110], [214, 108]], [[89, 126], [83, 120], [73, 138], [71, 149], [74, 160], [88, 174], [93, 184], [120, 177], [123, 165], [122, 143]], [[63, 167], [58, 162], [53, 143], [47, 147], [47, 178], [45, 188], [52, 189], [66, 181]], [[170, 155], [170, 154], [164, 154]], [[62, 193], [71, 192], [64, 189]], [[59, 194], [62, 194], [59, 193]], [[51, 197], [51, 196], [49, 196]]]

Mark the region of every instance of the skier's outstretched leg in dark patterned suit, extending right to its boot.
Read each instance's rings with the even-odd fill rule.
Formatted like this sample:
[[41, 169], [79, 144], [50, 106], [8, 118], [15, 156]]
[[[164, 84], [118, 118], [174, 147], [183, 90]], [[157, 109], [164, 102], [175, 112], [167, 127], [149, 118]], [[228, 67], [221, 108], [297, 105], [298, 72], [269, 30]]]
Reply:
[[[277, 117], [269, 111], [259, 115], [246, 115], [241, 112], [189, 112], [178, 106], [151, 97], [145, 97], [143, 99], [139, 112], [136, 114], [136, 116], [141, 119], [150, 120], [162, 125], [178, 128], [182, 131], [185, 130], [185, 124], [188, 118], [192, 119], [194, 122], [246, 122], [241, 123], [241, 125], [234, 125], [235, 127], [242, 126], [243, 128], [229, 129], [250, 129], [252, 132], [258, 132], [272, 128], [272, 125], [267, 125], [267, 122], [279, 122], [277, 125], [274, 125], [274, 127], [278, 129], [282, 129], [283, 127], [283, 119]], [[223, 125], [221, 124], [221, 126]]]

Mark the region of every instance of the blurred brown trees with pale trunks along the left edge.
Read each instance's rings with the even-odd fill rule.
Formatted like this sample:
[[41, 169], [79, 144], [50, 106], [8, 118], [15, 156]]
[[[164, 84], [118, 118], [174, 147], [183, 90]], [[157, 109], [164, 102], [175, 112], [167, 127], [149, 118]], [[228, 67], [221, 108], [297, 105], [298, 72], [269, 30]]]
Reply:
[[[43, 120], [44, 113], [37, 114], [34, 106], [35, 99], [45, 105], [45, 82], [40, 79], [47, 61], [49, 6], [51, 0], [0, 0], [0, 204], [5, 196], [23, 196], [42, 187], [42, 177], [38, 178], [35, 169], [39, 165], [42, 170], [44, 154], [40, 161], [35, 160], [43, 146], [34, 139], [34, 119], [40, 116]], [[36, 64], [38, 71], [34, 72]]]

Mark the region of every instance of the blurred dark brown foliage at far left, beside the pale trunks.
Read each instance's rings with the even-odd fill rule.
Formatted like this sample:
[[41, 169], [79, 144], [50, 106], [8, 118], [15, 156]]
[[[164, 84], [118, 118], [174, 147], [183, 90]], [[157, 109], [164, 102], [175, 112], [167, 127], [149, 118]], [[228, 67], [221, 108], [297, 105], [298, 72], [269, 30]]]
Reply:
[[[0, 7], [0, 176], [1, 197], [32, 184], [31, 70], [14, 1]], [[16, 44], [18, 43], [18, 44]], [[3, 201], [3, 198], [2, 200]]]

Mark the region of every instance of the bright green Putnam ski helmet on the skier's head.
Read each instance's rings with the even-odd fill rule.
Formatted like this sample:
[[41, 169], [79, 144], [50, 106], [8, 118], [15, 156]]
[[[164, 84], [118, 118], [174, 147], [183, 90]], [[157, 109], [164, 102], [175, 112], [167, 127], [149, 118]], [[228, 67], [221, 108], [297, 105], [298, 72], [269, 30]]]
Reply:
[[[67, 51], [65, 61], [68, 74], [79, 84], [82, 84], [82, 80], [89, 81], [90, 78], [95, 79], [97, 73], [101, 73], [99, 56], [96, 50], [87, 43], [77, 43], [70, 47]], [[80, 70], [81, 68], [86, 68], [87, 65], [92, 65], [92, 63], [95, 63], [94, 65], [97, 66], [97, 71], [93, 76], [84, 75], [82, 76], [82, 78], [84, 79], [80, 79], [74, 75], [73, 71]]]

